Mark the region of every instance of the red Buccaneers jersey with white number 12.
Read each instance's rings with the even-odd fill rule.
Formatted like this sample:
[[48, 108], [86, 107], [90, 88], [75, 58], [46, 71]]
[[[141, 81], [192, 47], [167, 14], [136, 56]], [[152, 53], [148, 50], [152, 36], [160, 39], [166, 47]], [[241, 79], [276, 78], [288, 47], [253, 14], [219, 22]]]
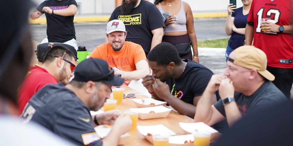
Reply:
[[268, 66], [293, 68], [292, 62], [283, 63], [283, 60], [293, 59], [293, 36], [285, 33], [264, 33], [260, 29], [261, 18], [271, 18], [269, 22], [277, 25], [292, 25], [292, 0], [253, 0], [247, 21], [254, 25], [253, 46], [265, 52]]

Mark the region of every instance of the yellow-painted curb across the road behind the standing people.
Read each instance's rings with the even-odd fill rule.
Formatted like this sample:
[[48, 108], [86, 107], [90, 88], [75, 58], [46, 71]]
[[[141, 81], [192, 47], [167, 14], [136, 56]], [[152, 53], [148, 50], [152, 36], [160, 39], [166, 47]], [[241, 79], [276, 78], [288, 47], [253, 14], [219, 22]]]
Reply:
[[[211, 14], [193, 14], [193, 18], [218, 18], [227, 17], [227, 13], [211, 13]], [[73, 22], [108, 22], [110, 16], [101, 17], [75, 17]], [[47, 23], [46, 18], [28, 19], [30, 24]]]

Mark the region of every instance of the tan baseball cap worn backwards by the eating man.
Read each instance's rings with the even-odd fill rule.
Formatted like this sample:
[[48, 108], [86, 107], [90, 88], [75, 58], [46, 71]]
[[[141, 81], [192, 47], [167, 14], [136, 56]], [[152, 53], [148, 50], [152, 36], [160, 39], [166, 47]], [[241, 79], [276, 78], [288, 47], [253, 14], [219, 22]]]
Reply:
[[241, 46], [234, 50], [235, 59], [228, 58], [233, 64], [248, 68], [256, 69], [259, 74], [270, 81], [275, 80], [275, 76], [267, 69], [267, 55], [254, 46]]

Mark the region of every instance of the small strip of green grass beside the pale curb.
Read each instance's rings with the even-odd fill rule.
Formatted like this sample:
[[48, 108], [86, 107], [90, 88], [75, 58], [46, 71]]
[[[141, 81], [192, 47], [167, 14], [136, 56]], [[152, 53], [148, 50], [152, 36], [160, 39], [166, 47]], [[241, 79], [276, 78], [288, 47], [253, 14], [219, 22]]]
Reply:
[[200, 48], [226, 48], [229, 38], [197, 41], [197, 47]]

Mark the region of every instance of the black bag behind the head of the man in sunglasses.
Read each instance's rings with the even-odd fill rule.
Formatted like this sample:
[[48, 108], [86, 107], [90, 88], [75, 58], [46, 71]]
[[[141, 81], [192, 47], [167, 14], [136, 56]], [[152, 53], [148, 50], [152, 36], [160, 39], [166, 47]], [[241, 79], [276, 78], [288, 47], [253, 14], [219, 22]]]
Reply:
[[37, 58], [38, 61], [43, 62], [44, 61], [44, 57], [46, 55], [46, 53], [53, 47], [53, 46], [64, 46], [66, 48], [68, 48], [70, 51], [72, 51], [72, 53], [75, 55], [75, 58], [77, 59], [77, 52], [75, 50], [75, 48], [73, 46], [67, 45], [67, 44], [63, 44], [63, 43], [43, 43], [43, 44], [39, 44], [37, 47], [37, 50], [35, 51], [35, 53], [37, 54]]

